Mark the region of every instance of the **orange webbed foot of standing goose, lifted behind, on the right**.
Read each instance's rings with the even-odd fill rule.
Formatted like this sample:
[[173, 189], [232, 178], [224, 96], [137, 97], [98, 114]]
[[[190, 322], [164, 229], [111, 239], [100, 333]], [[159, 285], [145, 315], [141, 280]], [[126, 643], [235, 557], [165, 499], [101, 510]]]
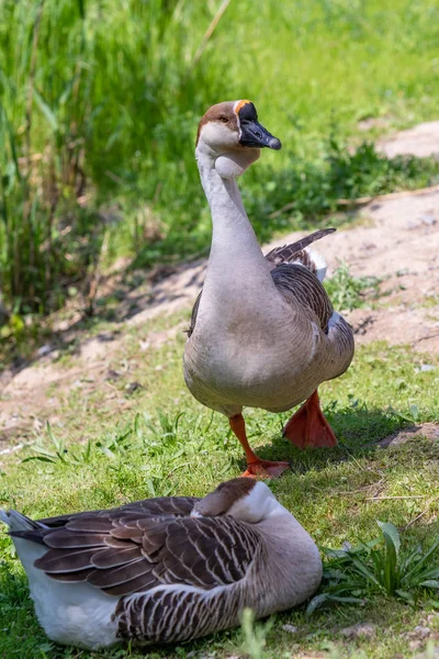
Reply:
[[337, 437], [320, 410], [317, 390], [290, 418], [283, 428], [283, 436], [299, 448], [308, 446], [331, 448], [337, 445]]

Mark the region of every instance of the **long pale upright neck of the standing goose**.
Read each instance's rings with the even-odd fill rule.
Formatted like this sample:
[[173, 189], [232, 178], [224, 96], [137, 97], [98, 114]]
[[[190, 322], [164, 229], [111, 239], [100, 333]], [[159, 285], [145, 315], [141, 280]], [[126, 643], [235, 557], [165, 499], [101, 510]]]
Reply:
[[223, 179], [214, 167], [214, 159], [202, 149], [196, 150], [201, 182], [211, 206], [213, 235], [204, 292], [221, 283], [233, 286], [243, 280], [243, 273], [255, 286], [261, 281], [271, 289], [270, 268], [262, 256], [257, 237], [244, 209], [235, 179]]

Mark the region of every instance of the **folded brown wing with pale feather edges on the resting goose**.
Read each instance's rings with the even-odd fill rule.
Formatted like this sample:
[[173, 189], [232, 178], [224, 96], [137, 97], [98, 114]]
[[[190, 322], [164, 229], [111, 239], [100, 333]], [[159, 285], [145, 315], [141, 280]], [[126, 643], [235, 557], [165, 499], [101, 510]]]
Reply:
[[261, 544], [251, 525], [228, 516], [159, 517], [150, 511], [81, 513], [66, 517], [64, 526], [57, 517], [54, 527], [38, 529], [47, 551], [35, 567], [58, 581], [87, 581], [117, 596], [171, 584], [211, 590], [245, 578]]

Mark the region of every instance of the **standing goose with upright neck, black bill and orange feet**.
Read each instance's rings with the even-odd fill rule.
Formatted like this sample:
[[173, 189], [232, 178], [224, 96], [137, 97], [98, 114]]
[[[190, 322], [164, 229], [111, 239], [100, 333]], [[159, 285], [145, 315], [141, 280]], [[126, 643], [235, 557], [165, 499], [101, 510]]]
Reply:
[[229, 418], [247, 459], [244, 476], [278, 477], [288, 462], [250, 448], [244, 406], [283, 412], [305, 401], [284, 427], [300, 448], [335, 446], [317, 387], [346, 371], [353, 335], [322, 286], [324, 259], [307, 245], [319, 231], [263, 257], [236, 178], [281, 143], [247, 100], [213, 105], [202, 118], [195, 156], [211, 206], [213, 236], [202, 293], [192, 311], [184, 379], [194, 398]]

